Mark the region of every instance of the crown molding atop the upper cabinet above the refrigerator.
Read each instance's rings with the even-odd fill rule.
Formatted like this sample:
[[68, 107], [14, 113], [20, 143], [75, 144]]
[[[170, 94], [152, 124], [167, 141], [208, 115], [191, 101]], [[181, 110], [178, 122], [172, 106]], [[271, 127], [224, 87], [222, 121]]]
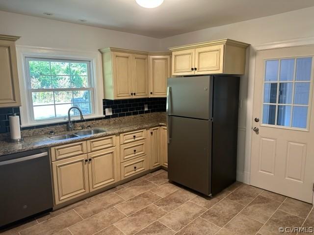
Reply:
[[238, 41], [226, 38], [226, 39], [221, 39], [221, 40], [214, 40], [214, 41], [202, 42], [202, 43], [194, 43], [194, 44], [178, 46], [178, 47], [169, 47], [168, 49], [170, 51], [176, 51], [176, 50], [182, 50], [182, 49], [188, 49], [188, 48], [205, 47], [205, 46], [213, 46], [213, 45], [220, 45], [220, 44], [234, 45], [234, 46], [243, 47], [243, 48], [250, 46], [250, 44], [242, 43], [242, 42], [238, 42]]

